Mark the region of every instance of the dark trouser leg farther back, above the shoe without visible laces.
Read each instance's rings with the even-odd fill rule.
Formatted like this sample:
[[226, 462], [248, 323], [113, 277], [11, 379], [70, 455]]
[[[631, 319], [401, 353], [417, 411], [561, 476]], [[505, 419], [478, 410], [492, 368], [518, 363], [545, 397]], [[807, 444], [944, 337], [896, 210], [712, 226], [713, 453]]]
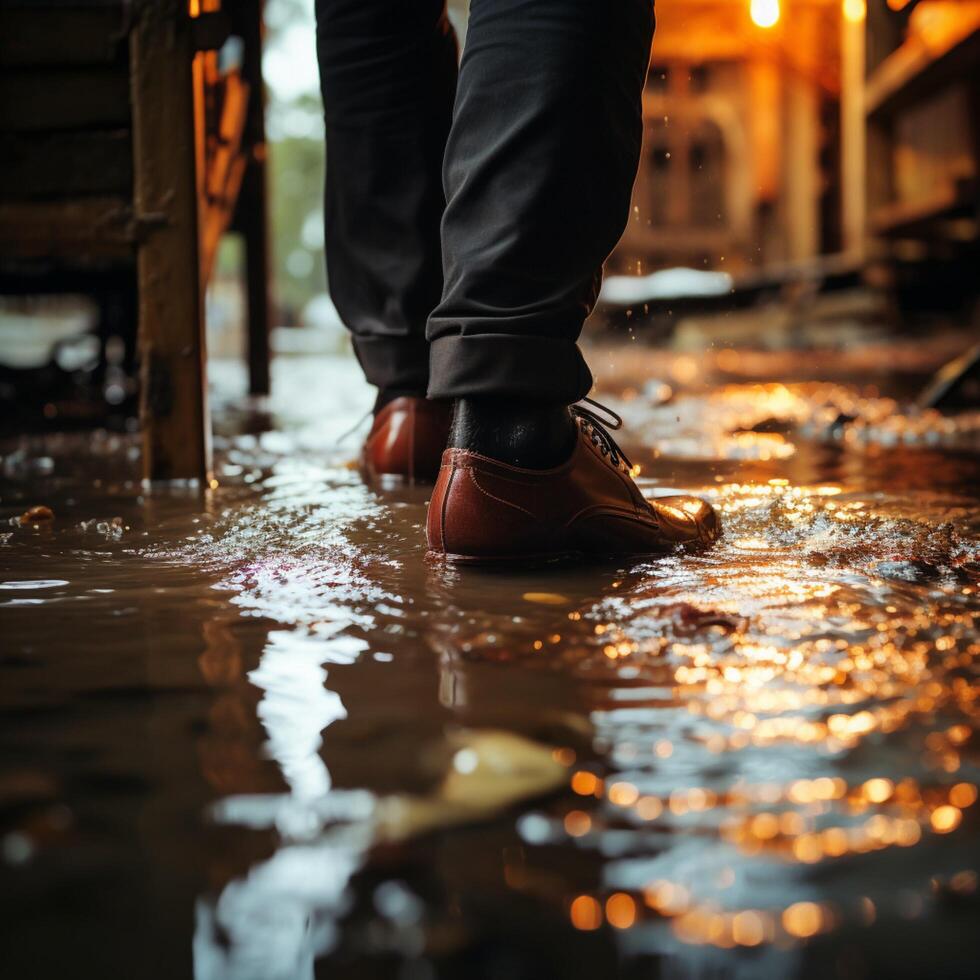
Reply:
[[330, 293], [381, 405], [424, 395], [456, 90], [444, 0], [316, 0]]

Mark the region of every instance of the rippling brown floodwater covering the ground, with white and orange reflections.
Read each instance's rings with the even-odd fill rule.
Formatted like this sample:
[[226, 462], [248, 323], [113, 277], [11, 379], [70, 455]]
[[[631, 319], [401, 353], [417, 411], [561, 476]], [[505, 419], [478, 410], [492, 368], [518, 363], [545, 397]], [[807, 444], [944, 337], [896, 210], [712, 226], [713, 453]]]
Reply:
[[980, 417], [722, 354], [592, 355], [724, 520], [621, 567], [424, 561], [343, 358], [219, 399], [203, 494], [8, 445], [4, 976], [975, 975]]

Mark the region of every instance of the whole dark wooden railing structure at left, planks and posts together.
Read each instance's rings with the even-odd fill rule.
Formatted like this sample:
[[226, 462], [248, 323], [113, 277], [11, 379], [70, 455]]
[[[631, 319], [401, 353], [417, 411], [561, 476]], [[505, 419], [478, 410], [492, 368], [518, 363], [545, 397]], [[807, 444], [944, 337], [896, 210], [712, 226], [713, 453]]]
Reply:
[[261, 13], [0, 0], [0, 282], [25, 263], [49, 283], [135, 276], [149, 480], [210, 476], [204, 291], [230, 228], [245, 239], [250, 386], [268, 391]]

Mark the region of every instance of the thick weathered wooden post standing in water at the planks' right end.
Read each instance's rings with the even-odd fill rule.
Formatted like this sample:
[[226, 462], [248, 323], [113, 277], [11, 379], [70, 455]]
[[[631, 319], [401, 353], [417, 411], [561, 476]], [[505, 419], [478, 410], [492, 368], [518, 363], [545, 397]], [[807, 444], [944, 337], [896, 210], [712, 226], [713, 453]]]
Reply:
[[202, 80], [187, 0], [137, 4], [130, 36], [143, 477], [207, 480], [200, 262]]

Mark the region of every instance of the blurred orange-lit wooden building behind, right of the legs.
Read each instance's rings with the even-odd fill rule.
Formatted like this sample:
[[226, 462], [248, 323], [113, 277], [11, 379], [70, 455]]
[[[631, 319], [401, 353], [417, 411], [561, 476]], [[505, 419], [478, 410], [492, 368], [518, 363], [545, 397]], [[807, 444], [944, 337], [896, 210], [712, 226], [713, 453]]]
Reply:
[[660, 0], [657, 19], [619, 269], [970, 252], [980, 4]]

